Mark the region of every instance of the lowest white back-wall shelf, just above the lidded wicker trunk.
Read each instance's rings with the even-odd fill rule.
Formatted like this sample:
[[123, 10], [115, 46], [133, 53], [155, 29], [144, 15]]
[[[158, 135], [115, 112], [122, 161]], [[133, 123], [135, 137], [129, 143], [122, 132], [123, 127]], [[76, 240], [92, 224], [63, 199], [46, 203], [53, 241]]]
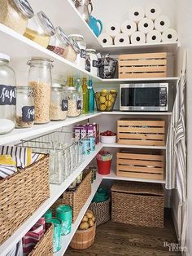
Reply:
[[138, 178], [127, 178], [127, 177], [120, 177], [116, 176], [116, 168], [111, 168], [111, 173], [107, 175], [103, 175], [103, 179], [112, 179], [112, 180], [124, 180], [124, 181], [137, 181], [137, 182], [144, 182], [144, 183], [160, 183], [164, 184], [165, 180], [158, 180], [158, 179], [138, 179]]

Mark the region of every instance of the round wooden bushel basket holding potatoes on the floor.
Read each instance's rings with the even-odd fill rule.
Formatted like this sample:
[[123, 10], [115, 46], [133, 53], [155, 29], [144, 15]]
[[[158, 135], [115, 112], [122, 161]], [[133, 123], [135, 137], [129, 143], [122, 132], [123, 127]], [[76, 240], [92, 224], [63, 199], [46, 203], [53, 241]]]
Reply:
[[77, 230], [72, 237], [70, 247], [72, 249], [87, 249], [94, 244], [94, 237], [96, 232], [96, 224], [87, 230]]

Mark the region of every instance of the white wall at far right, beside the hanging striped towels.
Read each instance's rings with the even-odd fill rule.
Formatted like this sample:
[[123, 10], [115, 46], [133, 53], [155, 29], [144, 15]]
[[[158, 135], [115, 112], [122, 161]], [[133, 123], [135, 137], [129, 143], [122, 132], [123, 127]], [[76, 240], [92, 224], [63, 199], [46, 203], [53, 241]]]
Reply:
[[[191, 0], [177, 0], [177, 29], [179, 32], [179, 37], [181, 38], [181, 52], [186, 47], [188, 51], [187, 56], [187, 93], [186, 93], [186, 129], [187, 129], [187, 169], [188, 169], [188, 235], [187, 235], [187, 247], [189, 255], [192, 255], [192, 2]], [[188, 25], [189, 24], [189, 25]], [[188, 29], [189, 28], [189, 29]], [[178, 67], [180, 67], [182, 58], [179, 58]]]

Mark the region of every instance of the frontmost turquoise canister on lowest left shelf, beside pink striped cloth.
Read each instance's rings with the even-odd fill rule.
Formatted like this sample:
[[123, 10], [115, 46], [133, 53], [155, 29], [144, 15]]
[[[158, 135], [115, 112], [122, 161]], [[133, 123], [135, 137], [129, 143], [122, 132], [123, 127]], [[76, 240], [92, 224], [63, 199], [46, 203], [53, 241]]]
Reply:
[[62, 222], [59, 218], [48, 218], [46, 223], [54, 224], [54, 241], [53, 241], [53, 252], [56, 253], [61, 249], [61, 225]]

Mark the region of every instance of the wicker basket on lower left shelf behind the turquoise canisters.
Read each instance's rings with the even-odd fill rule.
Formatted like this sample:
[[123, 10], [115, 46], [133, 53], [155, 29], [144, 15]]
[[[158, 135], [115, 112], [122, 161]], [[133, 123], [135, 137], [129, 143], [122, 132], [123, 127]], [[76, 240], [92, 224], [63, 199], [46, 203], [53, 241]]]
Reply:
[[83, 176], [85, 178], [78, 188], [76, 188], [76, 191], [64, 192], [63, 198], [59, 198], [55, 204], [51, 206], [54, 215], [58, 205], [70, 205], [72, 207], [72, 223], [76, 221], [82, 207], [85, 205], [85, 202], [91, 194], [91, 172], [86, 170]]

